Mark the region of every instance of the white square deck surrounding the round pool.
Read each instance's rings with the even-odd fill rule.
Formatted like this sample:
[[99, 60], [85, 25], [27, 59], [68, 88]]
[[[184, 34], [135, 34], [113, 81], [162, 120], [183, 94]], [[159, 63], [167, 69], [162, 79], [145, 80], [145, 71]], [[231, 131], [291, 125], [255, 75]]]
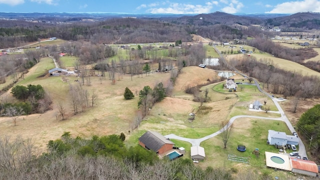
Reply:
[[[273, 162], [271, 160], [272, 156], [280, 157], [284, 160], [284, 163], [278, 164], [276, 162]], [[290, 165], [289, 156], [286, 153], [274, 153], [274, 152], [266, 152], [265, 151], [265, 163], [266, 166], [272, 167], [272, 168], [278, 168], [283, 170], [292, 170], [292, 167]]]

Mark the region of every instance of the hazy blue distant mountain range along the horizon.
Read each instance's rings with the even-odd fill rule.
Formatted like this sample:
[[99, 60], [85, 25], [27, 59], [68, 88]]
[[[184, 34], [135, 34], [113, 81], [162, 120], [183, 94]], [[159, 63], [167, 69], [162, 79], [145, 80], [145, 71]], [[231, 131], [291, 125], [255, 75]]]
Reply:
[[[167, 22], [190, 25], [251, 25], [278, 26], [280, 28], [320, 29], [320, 13], [300, 12], [295, 14], [278, 13], [237, 13], [213, 12], [206, 14], [152, 14], [152, 13], [103, 13], [103, 12], [55, 12], [55, 13], [14, 13], [0, 12], [0, 20], [63, 23], [75, 21], [100, 21], [109, 18], [159, 19]], [[0, 23], [1, 24], [1, 23]], [[7, 23], [6, 23], [7, 24]], [[3, 26], [3, 25], [0, 25]], [[7, 26], [7, 25], [5, 25]]]

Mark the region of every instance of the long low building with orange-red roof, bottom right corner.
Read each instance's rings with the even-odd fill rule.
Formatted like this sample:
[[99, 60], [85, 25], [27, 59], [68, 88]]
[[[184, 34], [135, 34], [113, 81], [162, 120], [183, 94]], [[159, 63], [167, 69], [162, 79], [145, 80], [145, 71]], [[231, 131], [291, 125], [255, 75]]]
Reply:
[[318, 168], [315, 162], [311, 160], [303, 160], [295, 157], [290, 157], [290, 165], [293, 173], [299, 173], [315, 177]]

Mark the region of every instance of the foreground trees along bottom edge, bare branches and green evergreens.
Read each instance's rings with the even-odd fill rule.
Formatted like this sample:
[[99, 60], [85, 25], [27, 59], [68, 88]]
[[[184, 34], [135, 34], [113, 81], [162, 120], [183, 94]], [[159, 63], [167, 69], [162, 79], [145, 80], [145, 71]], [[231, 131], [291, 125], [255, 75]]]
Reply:
[[[124, 134], [123, 134], [124, 135]], [[37, 154], [30, 139], [0, 138], [0, 179], [271, 179], [267, 172], [236, 168], [202, 168], [189, 158], [159, 159], [140, 145], [126, 147], [123, 135], [50, 140]], [[122, 138], [121, 138], [122, 137]], [[232, 173], [237, 173], [233, 175]], [[287, 176], [287, 179], [290, 179]]]

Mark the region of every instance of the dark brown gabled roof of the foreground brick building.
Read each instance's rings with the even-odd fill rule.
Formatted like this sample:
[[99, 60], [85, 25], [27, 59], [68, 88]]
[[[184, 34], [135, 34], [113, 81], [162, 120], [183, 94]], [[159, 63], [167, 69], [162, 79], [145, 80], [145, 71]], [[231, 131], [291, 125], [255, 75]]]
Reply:
[[162, 134], [155, 131], [146, 131], [139, 141], [144, 143], [149, 149], [157, 152], [164, 144], [174, 144], [169, 138], [164, 137]]

